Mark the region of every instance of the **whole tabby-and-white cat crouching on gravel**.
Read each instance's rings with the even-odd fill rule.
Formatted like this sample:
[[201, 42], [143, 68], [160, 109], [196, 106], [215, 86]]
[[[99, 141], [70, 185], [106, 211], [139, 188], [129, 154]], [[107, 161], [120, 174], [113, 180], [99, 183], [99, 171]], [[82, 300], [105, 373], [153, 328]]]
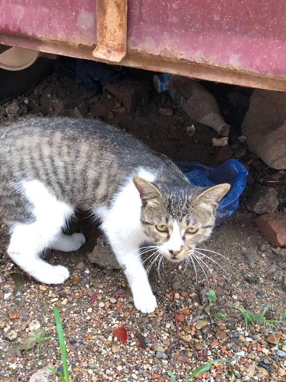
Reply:
[[0, 129], [0, 220], [10, 225], [11, 259], [41, 283], [69, 277], [41, 252], [76, 251], [82, 233], [62, 233], [77, 208], [101, 220], [134, 304], [154, 311], [156, 298], [140, 257], [149, 242], [156, 256], [179, 262], [212, 233], [215, 209], [229, 184], [190, 184], [166, 156], [100, 121], [31, 118]]

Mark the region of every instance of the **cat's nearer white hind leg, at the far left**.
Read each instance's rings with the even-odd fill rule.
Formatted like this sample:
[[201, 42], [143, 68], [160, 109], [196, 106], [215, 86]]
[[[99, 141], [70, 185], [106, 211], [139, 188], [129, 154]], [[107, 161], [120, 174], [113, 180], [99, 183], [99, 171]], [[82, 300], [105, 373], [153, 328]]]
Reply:
[[60, 284], [69, 277], [69, 270], [62, 265], [51, 265], [39, 255], [55, 242], [72, 215], [72, 208], [58, 201], [39, 181], [23, 182], [24, 194], [34, 206], [34, 221], [16, 223], [11, 229], [8, 255], [24, 271], [45, 284]]

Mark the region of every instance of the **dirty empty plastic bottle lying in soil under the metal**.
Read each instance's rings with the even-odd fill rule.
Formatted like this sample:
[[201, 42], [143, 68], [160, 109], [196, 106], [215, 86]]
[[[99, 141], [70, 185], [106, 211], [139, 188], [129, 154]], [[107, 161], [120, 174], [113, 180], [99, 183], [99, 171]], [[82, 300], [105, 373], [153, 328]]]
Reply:
[[229, 125], [222, 119], [214, 96], [198, 81], [173, 76], [168, 90], [193, 122], [210, 126], [222, 136], [229, 134]]

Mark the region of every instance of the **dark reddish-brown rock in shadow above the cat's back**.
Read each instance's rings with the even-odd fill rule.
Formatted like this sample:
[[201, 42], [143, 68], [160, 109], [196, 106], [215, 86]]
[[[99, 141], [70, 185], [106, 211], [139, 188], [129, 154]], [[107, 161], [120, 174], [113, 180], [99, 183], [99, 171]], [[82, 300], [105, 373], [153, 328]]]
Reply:
[[107, 84], [107, 91], [120, 99], [128, 112], [135, 112], [149, 101], [147, 85], [134, 80]]

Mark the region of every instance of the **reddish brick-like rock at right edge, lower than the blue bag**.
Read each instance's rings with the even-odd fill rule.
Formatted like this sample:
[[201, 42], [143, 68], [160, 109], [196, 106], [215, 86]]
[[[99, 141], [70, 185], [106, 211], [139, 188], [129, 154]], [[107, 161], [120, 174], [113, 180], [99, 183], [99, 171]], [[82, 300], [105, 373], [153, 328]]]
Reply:
[[256, 224], [273, 247], [286, 247], [286, 215], [268, 213], [256, 217]]

